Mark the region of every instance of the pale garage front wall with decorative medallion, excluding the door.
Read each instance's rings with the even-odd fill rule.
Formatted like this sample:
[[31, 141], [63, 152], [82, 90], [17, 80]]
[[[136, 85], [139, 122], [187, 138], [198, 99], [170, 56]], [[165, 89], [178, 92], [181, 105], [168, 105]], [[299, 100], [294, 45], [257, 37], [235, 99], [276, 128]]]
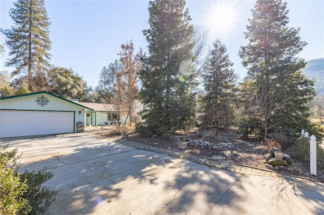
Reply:
[[[44, 96], [43, 103], [37, 103], [37, 99]], [[48, 100], [48, 102], [47, 102]], [[43, 104], [43, 106], [42, 106]], [[85, 122], [85, 110], [82, 106], [76, 105], [73, 102], [52, 96], [47, 93], [36, 93], [26, 96], [17, 96], [8, 99], [0, 100], [1, 110], [26, 110], [26, 111], [62, 111], [74, 113], [74, 132], [76, 132], [76, 122]], [[79, 111], [81, 112], [79, 114]]]

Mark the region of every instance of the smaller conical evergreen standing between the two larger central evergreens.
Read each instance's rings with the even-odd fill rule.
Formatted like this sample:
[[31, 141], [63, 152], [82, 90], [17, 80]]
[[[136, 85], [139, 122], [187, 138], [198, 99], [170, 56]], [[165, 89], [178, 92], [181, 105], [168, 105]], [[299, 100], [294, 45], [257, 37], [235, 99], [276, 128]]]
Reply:
[[216, 40], [213, 47], [203, 72], [207, 92], [203, 98], [207, 117], [204, 121], [229, 127], [234, 114], [232, 101], [235, 97], [237, 75], [231, 69], [233, 63], [226, 53], [226, 46], [220, 40]]

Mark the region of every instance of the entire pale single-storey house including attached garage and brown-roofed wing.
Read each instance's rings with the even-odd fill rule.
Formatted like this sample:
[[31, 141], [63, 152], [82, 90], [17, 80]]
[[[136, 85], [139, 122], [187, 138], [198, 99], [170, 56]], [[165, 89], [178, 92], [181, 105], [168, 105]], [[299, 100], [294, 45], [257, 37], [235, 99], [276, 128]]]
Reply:
[[[138, 103], [132, 122], [140, 122], [141, 109]], [[1, 138], [82, 132], [86, 125], [124, 123], [126, 117], [111, 104], [71, 101], [46, 91], [0, 97]]]

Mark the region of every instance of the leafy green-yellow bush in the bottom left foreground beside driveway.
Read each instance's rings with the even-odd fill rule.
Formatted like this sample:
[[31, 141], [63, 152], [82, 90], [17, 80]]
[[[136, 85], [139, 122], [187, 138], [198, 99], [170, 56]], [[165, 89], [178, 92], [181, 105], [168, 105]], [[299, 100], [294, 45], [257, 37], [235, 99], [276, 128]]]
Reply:
[[17, 152], [17, 148], [8, 150], [8, 145], [0, 144], [0, 214], [42, 213], [57, 193], [41, 186], [53, 174], [46, 169], [38, 173], [18, 173], [20, 155]]

